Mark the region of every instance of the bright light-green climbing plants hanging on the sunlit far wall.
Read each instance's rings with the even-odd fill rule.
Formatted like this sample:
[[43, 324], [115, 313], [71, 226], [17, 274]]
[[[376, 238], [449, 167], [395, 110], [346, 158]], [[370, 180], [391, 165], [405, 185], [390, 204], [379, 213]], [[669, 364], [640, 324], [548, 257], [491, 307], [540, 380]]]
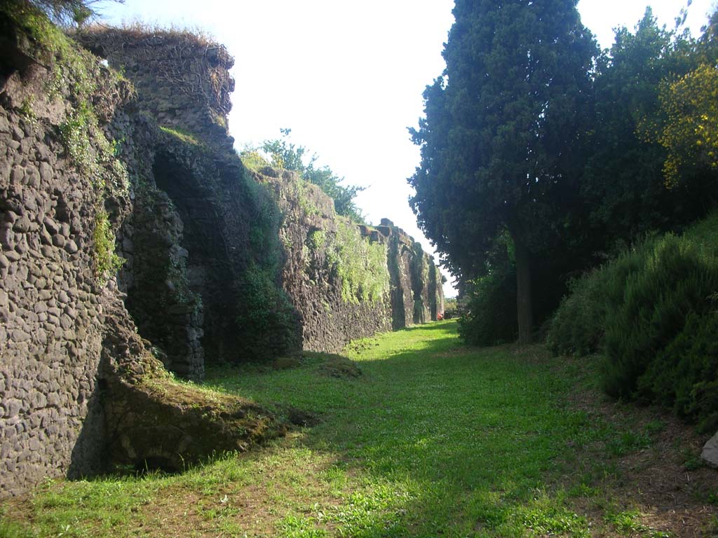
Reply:
[[382, 301], [389, 291], [386, 246], [362, 237], [350, 220], [337, 221], [327, 258], [342, 281], [342, 301]]

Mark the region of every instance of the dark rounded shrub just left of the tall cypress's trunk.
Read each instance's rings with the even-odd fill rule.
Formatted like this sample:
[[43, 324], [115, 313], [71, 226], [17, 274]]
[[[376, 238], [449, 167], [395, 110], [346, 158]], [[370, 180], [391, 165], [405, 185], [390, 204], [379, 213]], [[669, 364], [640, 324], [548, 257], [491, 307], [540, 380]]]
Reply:
[[459, 335], [475, 346], [516, 340], [516, 269], [506, 265], [477, 278], [459, 319]]

